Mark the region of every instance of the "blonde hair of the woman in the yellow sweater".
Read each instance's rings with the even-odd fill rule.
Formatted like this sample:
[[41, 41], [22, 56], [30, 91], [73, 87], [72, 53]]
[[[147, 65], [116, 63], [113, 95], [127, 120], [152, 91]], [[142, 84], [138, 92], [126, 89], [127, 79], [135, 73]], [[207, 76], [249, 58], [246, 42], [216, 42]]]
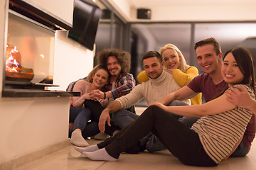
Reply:
[[[163, 57], [163, 52], [166, 49], [173, 49], [173, 50], [175, 50], [178, 53], [178, 56], [181, 57], [181, 61], [180, 61], [180, 64], [178, 65], [178, 69], [181, 69], [181, 72], [185, 72], [186, 69], [188, 69], [189, 65], [186, 64], [185, 57], [183, 57], [183, 55], [182, 55], [181, 51], [178, 49], [178, 47], [176, 47], [173, 44], [166, 44], [166, 45], [164, 45], [164, 47], [161, 47], [160, 50], [159, 50], [159, 53], [160, 53], [160, 55], [162, 57]], [[164, 65], [165, 65], [165, 63], [164, 63]]]

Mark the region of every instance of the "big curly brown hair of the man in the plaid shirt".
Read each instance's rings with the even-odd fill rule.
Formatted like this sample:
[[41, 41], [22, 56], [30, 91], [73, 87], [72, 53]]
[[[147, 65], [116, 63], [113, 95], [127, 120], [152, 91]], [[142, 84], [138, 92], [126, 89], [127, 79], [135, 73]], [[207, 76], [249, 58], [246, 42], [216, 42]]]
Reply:
[[102, 50], [97, 54], [97, 63], [107, 68], [107, 58], [110, 56], [117, 58], [119, 64], [121, 65], [121, 72], [129, 72], [129, 69], [131, 68], [131, 55], [129, 52], [117, 49]]

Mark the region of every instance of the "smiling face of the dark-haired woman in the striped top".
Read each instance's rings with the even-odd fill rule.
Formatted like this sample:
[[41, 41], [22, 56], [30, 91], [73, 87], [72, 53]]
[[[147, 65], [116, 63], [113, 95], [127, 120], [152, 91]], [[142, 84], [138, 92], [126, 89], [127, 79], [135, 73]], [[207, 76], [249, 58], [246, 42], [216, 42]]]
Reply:
[[235, 57], [231, 52], [228, 53], [223, 60], [221, 74], [223, 79], [228, 83], [228, 86], [240, 84], [240, 82], [244, 79], [244, 75], [238, 67], [238, 63], [235, 61]]

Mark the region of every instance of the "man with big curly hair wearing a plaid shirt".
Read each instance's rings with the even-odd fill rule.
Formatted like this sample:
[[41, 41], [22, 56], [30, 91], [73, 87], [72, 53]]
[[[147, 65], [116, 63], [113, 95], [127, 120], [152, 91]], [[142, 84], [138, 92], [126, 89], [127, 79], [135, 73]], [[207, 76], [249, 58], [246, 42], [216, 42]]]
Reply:
[[[129, 74], [129, 69], [131, 66], [131, 55], [129, 52], [117, 50], [117, 49], [105, 49], [97, 54], [97, 64], [105, 67], [110, 72], [110, 81], [102, 89], [90, 91], [90, 94], [97, 99], [106, 99], [108, 101], [113, 101], [116, 98], [129, 94], [129, 92], [134, 88], [136, 81], [132, 74]], [[98, 103], [92, 100], [85, 101], [85, 106], [90, 109], [92, 116], [96, 118], [100, 117], [101, 109], [99, 109]], [[127, 108], [127, 111], [135, 113], [134, 106]], [[94, 123], [95, 124], [95, 123]], [[87, 131], [96, 130], [97, 127], [94, 125], [92, 128], [88, 128]], [[112, 124], [112, 131], [116, 130], [115, 125]], [[86, 131], [86, 130], [85, 130]], [[112, 133], [107, 132], [107, 134]], [[105, 139], [106, 135], [100, 133], [95, 136], [97, 140]]]

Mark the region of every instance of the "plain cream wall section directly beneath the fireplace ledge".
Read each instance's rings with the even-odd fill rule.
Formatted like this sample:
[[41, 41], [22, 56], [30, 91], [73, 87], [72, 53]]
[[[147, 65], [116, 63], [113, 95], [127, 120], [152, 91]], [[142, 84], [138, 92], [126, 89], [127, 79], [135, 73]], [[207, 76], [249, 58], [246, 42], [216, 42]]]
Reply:
[[0, 98], [0, 164], [68, 139], [69, 98]]

